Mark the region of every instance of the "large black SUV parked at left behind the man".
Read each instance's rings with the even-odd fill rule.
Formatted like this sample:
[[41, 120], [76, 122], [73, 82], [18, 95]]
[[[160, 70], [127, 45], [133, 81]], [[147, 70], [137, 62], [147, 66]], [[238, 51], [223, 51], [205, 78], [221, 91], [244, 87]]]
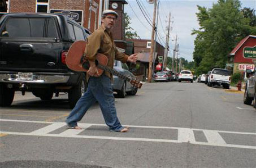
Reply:
[[42, 100], [68, 93], [74, 107], [86, 90], [84, 72], [66, 66], [76, 40], [90, 32], [61, 14], [8, 13], [0, 20], [0, 106], [10, 106], [15, 91], [32, 92]]

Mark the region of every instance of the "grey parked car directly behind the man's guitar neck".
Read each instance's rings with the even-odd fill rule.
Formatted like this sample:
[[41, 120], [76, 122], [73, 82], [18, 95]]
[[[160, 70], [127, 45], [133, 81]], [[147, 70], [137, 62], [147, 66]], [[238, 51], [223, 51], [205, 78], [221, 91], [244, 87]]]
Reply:
[[[135, 76], [129, 71], [129, 67], [126, 63], [122, 63], [121, 61], [115, 60], [114, 62], [114, 69], [120, 74], [127, 76], [128, 78], [135, 79]], [[138, 88], [134, 87], [128, 81], [113, 75], [113, 83], [112, 88], [114, 92], [118, 93], [118, 97], [124, 98], [127, 94], [128, 95], [136, 95]]]

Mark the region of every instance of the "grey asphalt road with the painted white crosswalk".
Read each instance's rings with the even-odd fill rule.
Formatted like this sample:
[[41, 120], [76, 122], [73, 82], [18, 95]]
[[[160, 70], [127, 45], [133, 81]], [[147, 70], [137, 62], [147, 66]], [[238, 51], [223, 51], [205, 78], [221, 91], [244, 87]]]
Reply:
[[1, 108], [1, 167], [256, 167], [256, 110], [243, 94], [202, 83], [146, 83], [116, 98], [129, 133], [107, 129], [96, 103], [66, 129], [67, 95], [15, 93]]

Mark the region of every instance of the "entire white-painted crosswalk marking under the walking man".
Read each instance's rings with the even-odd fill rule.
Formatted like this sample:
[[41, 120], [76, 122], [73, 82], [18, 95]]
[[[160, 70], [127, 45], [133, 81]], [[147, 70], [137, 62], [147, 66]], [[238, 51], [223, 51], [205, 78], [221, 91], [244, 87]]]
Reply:
[[[105, 139], [105, 140], [132, 140], [141, 142], [166, 142], [166, 143], [190, 143], [206, 146], [219, 146], [219, 147], [232, 147], [232, 148], [247, 148], [256, 149], [256, 146], [246, 146], [237, 144], [227, 144], [219, 133], [232, 133], [232, 134], [246, 134], [246, 135], [256, 135], [256, 133], [243, 133], [236, 131], [222, 131], [222, 130], [203, 130], [203, 129], [192, 129], [192, 128], [177, 128], [168, 126], [136, 126], [136, 125], [124, 125], [131, 128], [152, 128], [152, 129], [177, 129], [178, 136], [177, 140], [173, 139], [150, 139], [150, 138], [124, 138], [124, 137], [104, 137], [104, 136], [89, 136], [89, 135], [78, 135], [81, 131], [89, 128], [92, 125], [106, 126], [105, 124], [80, 124], [82, 130], [68, 129], [60, 134], [49, 134], [51, 131], [57, 130], [62, 126], [66, 125], [65, 122], [47, 122], [47, 121], [26, 121], [26, 120], [8, 120], [0, 119], [0, 121], [10, 121], [10, 122], [33, 122], [33, 123], [44, 123], [50, 124], [44, 128], [32, 131], [31, 133], [20, 133], [20, 132], [10, 132], [10, 131], [0, 131], [2, 134], [11, 135], [33, 135], [33, 136], [44, 136], [44, 137], [62, 137], [62, 138], [87, 138], [87, 139]], [[194, 137], [193, 130], [203, 131], [207, 138], [207, 142], [197, 142]]]

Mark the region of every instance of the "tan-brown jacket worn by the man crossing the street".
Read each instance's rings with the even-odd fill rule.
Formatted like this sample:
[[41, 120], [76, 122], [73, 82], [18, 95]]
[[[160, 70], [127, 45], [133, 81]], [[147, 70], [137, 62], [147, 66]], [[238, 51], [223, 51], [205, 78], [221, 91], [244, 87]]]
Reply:
[[[107, 66], [111, 67], [111, 69], [113, 68], [115, 60], [125, 63], [128, 58], [128, 55], [125, 55], [116, 49], [112, 33], [109, 33], [103, 25], [89, 36], [85, 48], [86, 58], [90, 61], [96, 60], [97, 53], [102, 53], [109, 58]], [[105, 74], [112, 78], [112, 75], [109, 72], [105, 71]]]

